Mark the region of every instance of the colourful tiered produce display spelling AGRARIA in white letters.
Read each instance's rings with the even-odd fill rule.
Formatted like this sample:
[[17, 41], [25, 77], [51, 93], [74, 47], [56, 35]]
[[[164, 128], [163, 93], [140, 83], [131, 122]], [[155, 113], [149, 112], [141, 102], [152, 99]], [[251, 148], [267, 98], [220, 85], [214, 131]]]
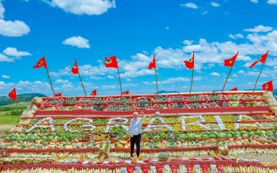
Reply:
[[[139, 109], [141, 155], [129, 158]], [[266, 91], [34, 98], [3, 136], [0, 171], [277, 172], [277, 163], [222, 156], [276, 154], [276, 114]]]

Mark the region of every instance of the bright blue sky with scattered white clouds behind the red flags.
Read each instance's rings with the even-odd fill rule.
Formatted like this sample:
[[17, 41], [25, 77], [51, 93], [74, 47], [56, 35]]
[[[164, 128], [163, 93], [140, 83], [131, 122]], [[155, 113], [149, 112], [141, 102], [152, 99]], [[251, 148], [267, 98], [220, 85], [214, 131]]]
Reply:
[[262, 66], [249, 66], [269, 50], [257, 89], [269, 80], [277, 86], [277, 0], [100, 1], [0, 0], [0, 95], [52, 95], [46, 70], [33, 69], [46, 57], [55, 93], [120, 94], [116, 69], [104, 57], [116, 55], [123, 91], [154, 93], [156, 54], [159, 90], [188, 92], [191, 70], [184, 60], [195, 51], [193, 91], [220, 90], [237, 51], [226, 90], [253, 89]]

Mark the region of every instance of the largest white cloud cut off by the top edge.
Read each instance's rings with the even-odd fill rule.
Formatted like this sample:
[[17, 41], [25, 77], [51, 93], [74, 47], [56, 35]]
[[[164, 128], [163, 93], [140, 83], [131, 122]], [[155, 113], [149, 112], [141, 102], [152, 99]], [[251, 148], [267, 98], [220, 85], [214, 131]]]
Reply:
[[75, 15], [102, 15], [109, 8], [116, 8], [116, 1], [112, 0], [52, 0], [47, 1], [53, 7]]

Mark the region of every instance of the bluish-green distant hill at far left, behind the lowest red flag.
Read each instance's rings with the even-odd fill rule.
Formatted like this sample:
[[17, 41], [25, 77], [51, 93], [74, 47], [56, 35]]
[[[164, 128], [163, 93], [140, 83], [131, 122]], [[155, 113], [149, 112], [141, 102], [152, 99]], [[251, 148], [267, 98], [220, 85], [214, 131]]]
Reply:
[[[46, 97], [46, 95], [42, 93], [24, 93], [17, 95], [18, 102], [30, 102], [34, 97]], [[15, 100], [12, 100], [9, 97], [0, 97], [0, 106], [7, 104], [14, 104]]]

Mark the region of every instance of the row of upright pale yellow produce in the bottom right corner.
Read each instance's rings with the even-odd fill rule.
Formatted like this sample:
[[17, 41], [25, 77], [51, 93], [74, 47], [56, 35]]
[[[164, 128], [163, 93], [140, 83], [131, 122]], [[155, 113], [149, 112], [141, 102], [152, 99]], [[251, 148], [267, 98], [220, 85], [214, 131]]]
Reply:
[[239, 167], [232, 167], [232, 166], [226, 166], [226, 167], [223, 167], [223, 170], [224, 172], [239, 172], [239, 173], [248, 173], [248, 172], [276, 172], [277, 173], [277, 170], [276, 169], [270, 169], [269, 167], [254, 167], [254, 166], [250, 166], [250, 167], [247, 167], [247, 166], [239, 166]]

